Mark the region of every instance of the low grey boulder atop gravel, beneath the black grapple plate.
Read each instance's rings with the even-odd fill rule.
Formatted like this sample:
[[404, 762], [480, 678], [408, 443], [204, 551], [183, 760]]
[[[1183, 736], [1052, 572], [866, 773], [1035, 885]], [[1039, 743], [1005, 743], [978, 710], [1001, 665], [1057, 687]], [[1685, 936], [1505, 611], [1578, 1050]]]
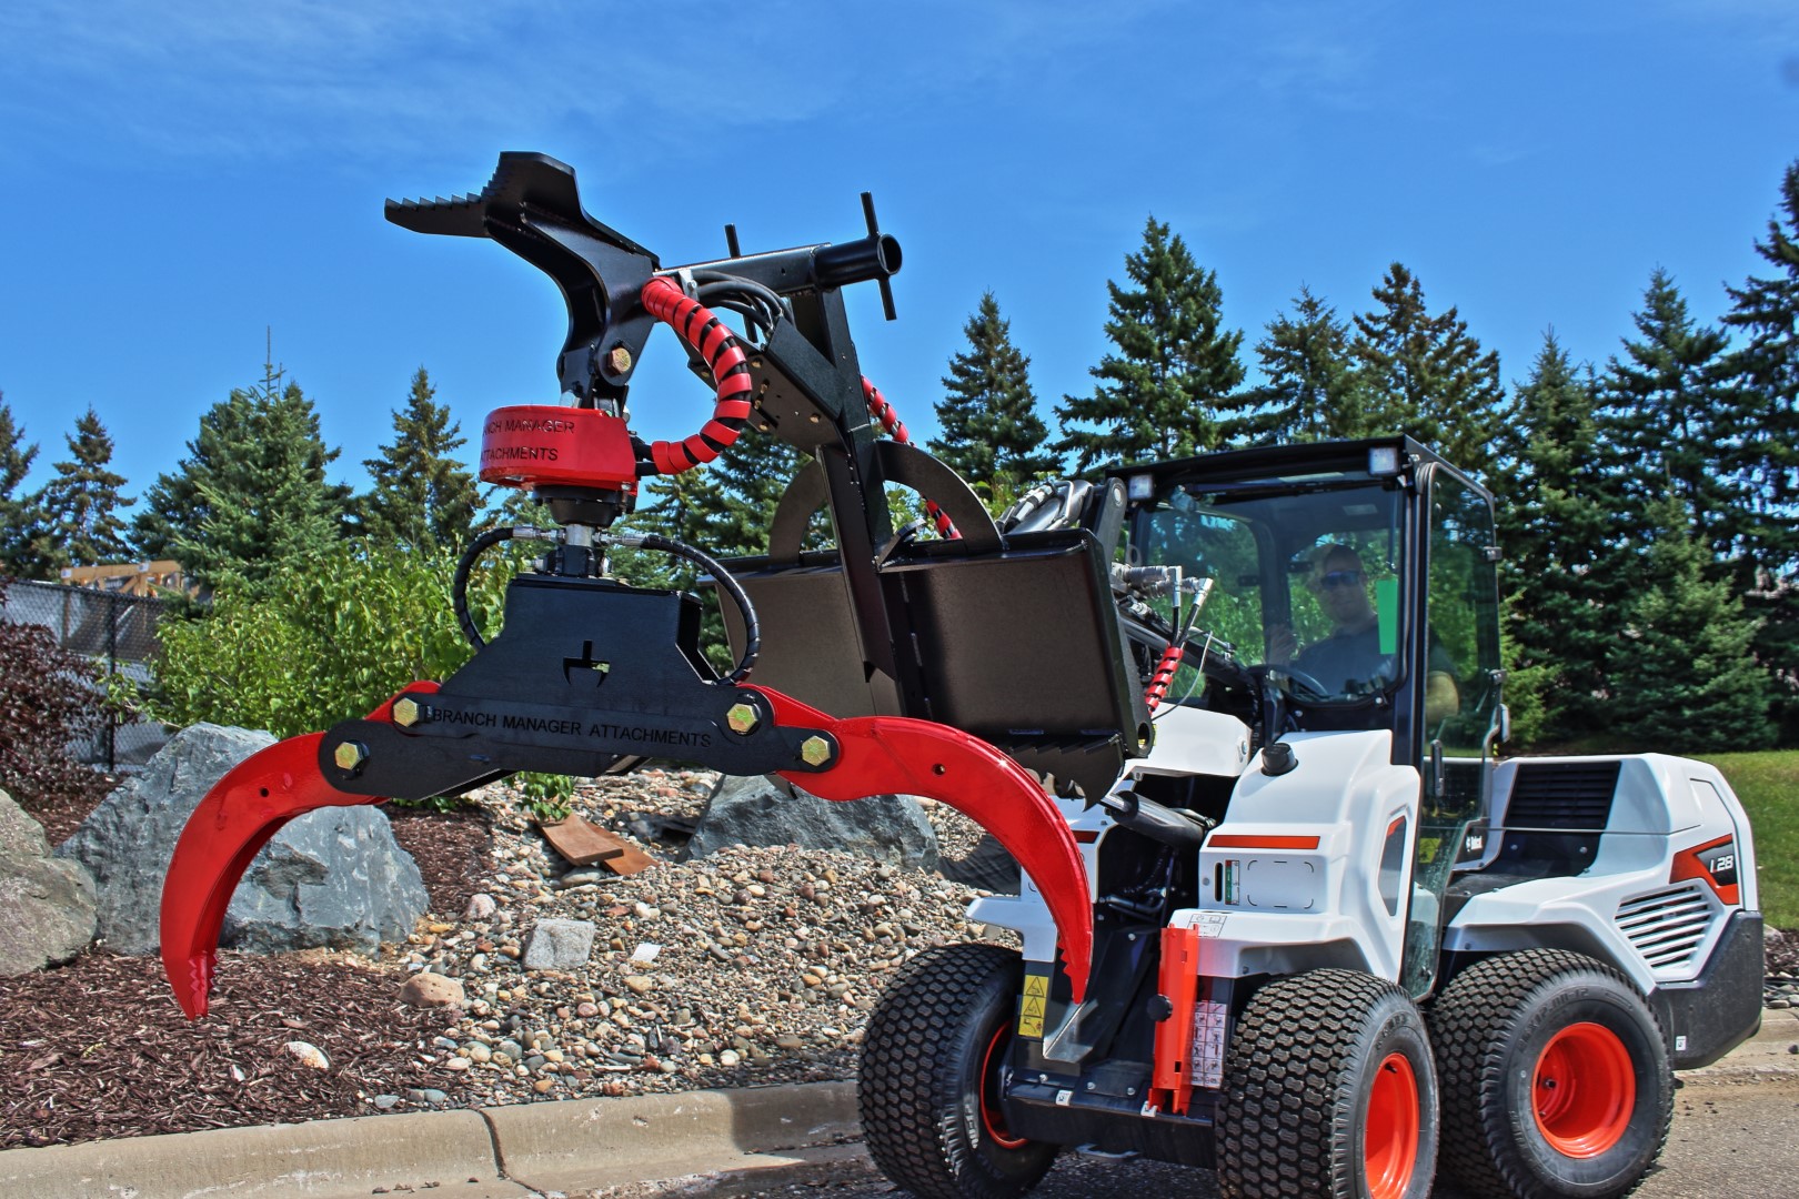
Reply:
[[694, 857], [727, 845], [838, 848], [917, 870], [937, 868], [937, 832], [908, 795], [835, 804], [775, 775], [725, 777], [687, 843]]

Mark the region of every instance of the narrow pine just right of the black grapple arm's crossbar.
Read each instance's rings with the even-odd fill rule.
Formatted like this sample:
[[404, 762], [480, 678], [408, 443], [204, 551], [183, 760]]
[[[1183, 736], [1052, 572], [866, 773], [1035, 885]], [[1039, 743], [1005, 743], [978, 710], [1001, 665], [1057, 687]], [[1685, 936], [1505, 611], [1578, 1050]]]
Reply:
[[1036, 415], [1031, 360], [1013, 345], [1011, 322], [1000, 316], [991, 291], [980, 297], [980, 311], [962, 334], [970, 349], [950, 358], [946, 395], [937, 403], [943, 435], [930, 451], [975, 484], [998, 473], [1024, 482], [1060, 469], [1061, 460], [1043, 449], [1049, 426]]

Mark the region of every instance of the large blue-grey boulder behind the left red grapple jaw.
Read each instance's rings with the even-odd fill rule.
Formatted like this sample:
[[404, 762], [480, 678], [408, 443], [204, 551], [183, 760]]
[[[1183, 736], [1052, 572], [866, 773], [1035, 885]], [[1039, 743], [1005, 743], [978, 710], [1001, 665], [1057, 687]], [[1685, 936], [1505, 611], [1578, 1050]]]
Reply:
[[[157, 951], [162, 879], [182, 827], [212, 784], [273, 742], [243, 728], [183, 728], [56, 848], [94, 872], [99, 933], [110, 949]], [[380, 809], [324, 807], [290, 820], [250, 861], [219, 944], [252, 953], [372, 953], [383, 940], [405, 940], [428, 904], [417, 863]]]

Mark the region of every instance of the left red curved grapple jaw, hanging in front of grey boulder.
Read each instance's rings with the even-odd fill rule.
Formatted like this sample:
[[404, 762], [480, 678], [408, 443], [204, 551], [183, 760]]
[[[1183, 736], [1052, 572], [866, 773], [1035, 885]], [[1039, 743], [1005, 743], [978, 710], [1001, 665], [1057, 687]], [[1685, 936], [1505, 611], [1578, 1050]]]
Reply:
[[[390, 703], [369, 719], [390, 719]], [[381, 802], [326, 782], [318, 771], [322, 739], [324, 733], [290, 737], [246, 757], [207, 791], [175, 843], [162, 883], [162, 969], [189, 1019], [207, 1014], [232, 892], [281, 825], [320, 807]]]

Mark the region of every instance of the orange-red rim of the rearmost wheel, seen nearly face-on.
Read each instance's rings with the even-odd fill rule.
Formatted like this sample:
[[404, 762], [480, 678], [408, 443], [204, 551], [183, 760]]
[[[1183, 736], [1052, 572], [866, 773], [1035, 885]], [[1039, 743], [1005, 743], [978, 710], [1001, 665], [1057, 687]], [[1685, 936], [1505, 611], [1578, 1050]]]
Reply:
[[1536, 1059], [1531, 1107], [1551, 1149], [1569, 1158], [1598, 1158], [1624, 1138], [1637, 1109], [1630, 1050], [1605, 1025], [1569, 1025]]

